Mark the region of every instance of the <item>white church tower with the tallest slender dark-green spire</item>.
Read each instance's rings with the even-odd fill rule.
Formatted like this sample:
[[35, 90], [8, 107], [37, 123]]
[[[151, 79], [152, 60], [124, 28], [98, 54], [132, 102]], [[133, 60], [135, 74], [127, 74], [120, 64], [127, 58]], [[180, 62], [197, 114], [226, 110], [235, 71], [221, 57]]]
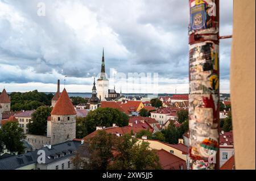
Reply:
[[109, 80], [106, 78], [105, 73], [105, 60], [104, 60], [104, 49], [102, 53], [102, 61], [101, 61], [101, 75], [97, 80], [98, 87], [98, 98], [100, 101], [106, 100], [105, 98], [109, 97]]

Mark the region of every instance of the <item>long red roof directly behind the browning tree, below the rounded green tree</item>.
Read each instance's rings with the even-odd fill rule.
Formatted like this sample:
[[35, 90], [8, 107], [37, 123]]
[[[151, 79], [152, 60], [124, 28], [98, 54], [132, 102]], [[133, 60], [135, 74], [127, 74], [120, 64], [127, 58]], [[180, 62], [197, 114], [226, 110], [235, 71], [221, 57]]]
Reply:
[[[106, 131], [107, 133], [121, 134], [122, 136], [123, 134], [131, 133], [131, 131], [133, 131], [133, 133], [135, 134], [145, 129], [126, 126], [126, 127], [109, 127], [109, 128], [104, 128], [103, 130]], [[150, 131], [153, 132], [153, 129], [150, 129]], [[84, 140], [89, 140], [90, 138], [93, 138], [94, 136], [96, 136], [97, 132], [98, 130], [88, 134], [87, 136], [84, 137]]]

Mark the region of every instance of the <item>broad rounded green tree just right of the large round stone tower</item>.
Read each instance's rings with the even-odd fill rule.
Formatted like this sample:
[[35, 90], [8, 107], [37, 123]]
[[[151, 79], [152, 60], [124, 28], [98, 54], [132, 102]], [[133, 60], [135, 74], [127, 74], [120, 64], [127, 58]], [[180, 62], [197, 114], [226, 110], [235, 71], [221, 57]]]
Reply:
[[112, 127], [113, 123], [119, 127], [124, 127], [129, 123], [129, 116], [113, 108], [97, 108], [90, 111], [86, 116], [86, 130], [90, 134], [96, 130], [97, 126]]

